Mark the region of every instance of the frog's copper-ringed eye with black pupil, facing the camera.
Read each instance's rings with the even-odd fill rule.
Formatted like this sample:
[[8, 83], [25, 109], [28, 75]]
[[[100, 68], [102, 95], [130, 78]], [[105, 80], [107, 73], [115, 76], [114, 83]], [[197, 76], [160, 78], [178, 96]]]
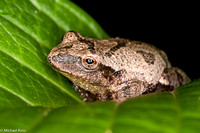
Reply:
[[86, 69], [95, 69], [98, 66], [98, 62], [94, 57], [86, 56], [82, 58], [82, 65]]

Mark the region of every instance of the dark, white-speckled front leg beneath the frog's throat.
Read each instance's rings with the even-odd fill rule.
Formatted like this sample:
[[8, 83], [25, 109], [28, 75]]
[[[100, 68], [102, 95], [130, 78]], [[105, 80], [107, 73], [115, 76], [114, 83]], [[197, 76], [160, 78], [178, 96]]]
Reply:
[[77, 85], [73, 85], [73, 86], [74, 86], [74, 89], [79, 93], [79, 95], [83, 99], [83, 101], [85, 101], [85, 102], [96, 101], [97, 96], [95, 94], [92, 94], [91, 92], [86, 91]]

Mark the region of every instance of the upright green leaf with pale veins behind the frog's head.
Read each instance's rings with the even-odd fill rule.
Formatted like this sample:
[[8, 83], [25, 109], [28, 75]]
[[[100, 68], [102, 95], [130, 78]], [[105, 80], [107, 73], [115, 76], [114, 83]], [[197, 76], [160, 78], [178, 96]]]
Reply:
[[0, 1], [0, 108], [82, 103], [68, 80], [47, 62], [50, 50], [69, 30], [107, 37], [70, 1]]

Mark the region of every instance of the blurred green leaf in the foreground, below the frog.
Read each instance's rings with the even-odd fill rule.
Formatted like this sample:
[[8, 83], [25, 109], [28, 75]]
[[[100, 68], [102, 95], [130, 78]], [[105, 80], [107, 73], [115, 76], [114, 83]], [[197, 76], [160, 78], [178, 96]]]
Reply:
[[17, 128], [33, 133], [197, 133], [200, 80], [171, 93], [148, 94], [122, 103], [6, 109], [1, 110], [0, 118], [0, 129]]

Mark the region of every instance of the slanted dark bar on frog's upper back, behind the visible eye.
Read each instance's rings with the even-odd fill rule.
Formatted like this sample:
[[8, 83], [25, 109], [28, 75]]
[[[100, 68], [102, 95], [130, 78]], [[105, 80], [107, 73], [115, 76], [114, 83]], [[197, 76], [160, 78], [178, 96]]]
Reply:
[[106, 52], [106, 56], [111, 57], [115, 51], [117, 51], [121, 47], [125, 47], [127, 40], [116, 40], [118, 43], [116, 46], [112, 47], [108, 52]]

